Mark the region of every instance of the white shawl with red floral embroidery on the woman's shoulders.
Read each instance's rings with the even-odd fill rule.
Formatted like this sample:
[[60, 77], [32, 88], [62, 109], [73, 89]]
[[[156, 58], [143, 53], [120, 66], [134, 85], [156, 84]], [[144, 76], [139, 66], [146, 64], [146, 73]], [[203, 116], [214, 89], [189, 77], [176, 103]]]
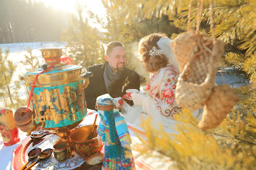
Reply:
[[152, 108], [152, 104], [154, 104], [155, 109], [148, 110], [147, 112], [154, 112], [148, 114], [161, 114], [164, 117], [172, 118], [174, 114], [177, 114], [181, 110], [181, 107], [178, 107], [175, 101], [175, 88], [178, 75], [178, 71], [171, 65], [157, 70], [151, 76], [149, 82], [146, 84], [146, 91], [149, 96], [148, 98], [154, 101], [147, 102], [146, 105], [144, 103], [144, 108], [147, 105], [151, 105], [148, 108]]

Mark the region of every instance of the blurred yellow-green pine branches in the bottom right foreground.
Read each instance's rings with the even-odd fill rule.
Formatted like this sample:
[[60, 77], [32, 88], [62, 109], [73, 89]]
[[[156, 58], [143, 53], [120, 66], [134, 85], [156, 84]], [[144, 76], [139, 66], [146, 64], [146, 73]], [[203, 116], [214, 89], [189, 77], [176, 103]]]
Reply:
[[[211, 131], [201, 131], [198, 121], [189, 110], [175, 115], [177, 134], [156, 130], [150, 121], [144, 122], [146, 138], [140, 138], [147, 148], [141, 151], [150, 156], [154, 149], [174, 163], [177, 169], [254, 169], [256, 155], [256, 117], [244, 121], [234, 112]], [[170, 167], [173, 169], [173, 167]]]

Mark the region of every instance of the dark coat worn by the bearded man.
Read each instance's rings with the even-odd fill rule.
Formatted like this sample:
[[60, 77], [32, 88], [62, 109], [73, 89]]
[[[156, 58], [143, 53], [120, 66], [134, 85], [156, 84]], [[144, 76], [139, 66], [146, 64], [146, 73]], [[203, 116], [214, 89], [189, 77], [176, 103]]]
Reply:
[[[106, 63], [104, 65], [96, 65], [88, 67], [88, 72], [92, 72], [93, 76], [89, 78], [90, 83], [85, 89], [85, 100], [87, 108], [95, 109], [96, 98], [102, 94], [108, 93], [106, 90], [103, 73]], [[109, 95], [113, 98], [123, 97], [127, 89], [140, 90], [140, 76], [133, 70], [127, 69], [123, 71], [121, 77], [113, 84], [113, 90]], [[126, 100], [128, 104], [133, 104], [132, 101]]]

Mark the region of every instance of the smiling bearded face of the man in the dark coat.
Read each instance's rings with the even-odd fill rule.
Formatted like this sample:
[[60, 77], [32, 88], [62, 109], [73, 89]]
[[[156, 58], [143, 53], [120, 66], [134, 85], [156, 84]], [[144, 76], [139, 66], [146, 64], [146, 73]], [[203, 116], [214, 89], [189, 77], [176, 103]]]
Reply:
[[123, 46], [116, 46], [110, 55], [106, 55], [106, 61], [114, 72], [123, 71], [126, 68], [126, 51]]

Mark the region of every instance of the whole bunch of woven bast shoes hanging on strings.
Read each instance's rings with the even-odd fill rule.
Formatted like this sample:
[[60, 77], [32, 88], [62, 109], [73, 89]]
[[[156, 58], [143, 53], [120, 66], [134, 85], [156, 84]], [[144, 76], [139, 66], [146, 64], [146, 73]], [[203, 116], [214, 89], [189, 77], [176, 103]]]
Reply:
[[210, 30], [212, 37], [199, 32], [203, 1], [198, 0], [196, 31], [190, 31], [191, 7], [189, 5], [188, 32], [172, 42], [181, 74], [178, 77], [175, 98], [180, 107], [196, 110], [204, 107], [198, 126], [202, 130], [216, 128], [237, 103], [238, 97], [227, 84], [215, 85], [216, 72], [224, 43], [215, 39], [213, 29], [213, 0], [210, 1]]

